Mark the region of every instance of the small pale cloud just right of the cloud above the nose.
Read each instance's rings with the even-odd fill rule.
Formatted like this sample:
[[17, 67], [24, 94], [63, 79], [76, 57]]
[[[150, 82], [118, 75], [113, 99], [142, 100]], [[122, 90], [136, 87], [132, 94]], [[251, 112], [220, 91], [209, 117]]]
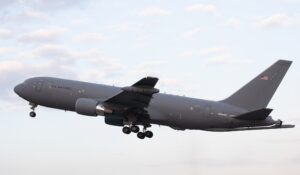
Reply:
[[101, 33], [81, 33], [74, 38], [76, 42], [98, 43], [107, 41], [108, 37], [103, 36]]

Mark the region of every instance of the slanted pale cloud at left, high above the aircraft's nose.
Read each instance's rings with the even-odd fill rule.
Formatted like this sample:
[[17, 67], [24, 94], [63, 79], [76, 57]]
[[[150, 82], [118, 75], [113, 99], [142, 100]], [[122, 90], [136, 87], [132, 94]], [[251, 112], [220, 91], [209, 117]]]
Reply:
[[57, 42], [59, 38], [67, 31], [62, 27], [48, 27], [45, 29], [38, 29], [32, 32], [25, 33], [18, 41], [22, 43], [45, 43]]

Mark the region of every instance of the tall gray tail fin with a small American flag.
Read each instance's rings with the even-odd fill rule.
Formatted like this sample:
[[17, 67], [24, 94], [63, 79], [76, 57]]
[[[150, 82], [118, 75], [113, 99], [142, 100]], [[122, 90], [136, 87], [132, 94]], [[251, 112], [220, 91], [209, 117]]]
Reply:
[[249, 111], [266, 108], [292, 61], [278, 60], [252, 81], [221, 102]]

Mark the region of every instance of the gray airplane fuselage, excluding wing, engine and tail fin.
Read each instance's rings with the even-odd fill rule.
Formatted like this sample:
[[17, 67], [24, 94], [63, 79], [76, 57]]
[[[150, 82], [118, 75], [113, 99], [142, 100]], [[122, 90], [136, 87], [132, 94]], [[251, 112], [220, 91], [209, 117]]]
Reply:
[[[121, 91], [120, 87], [51, 77], [31, 78], [19, 86], [22, 86], [19, 88], [24, 99], [69, 111], [75, 111], [79, 98], [102, 101]], [[270, 118], [259, 122], [237, 120], [234, 116], [248, 111], [230, 104], [161, 93], [153, 95], [147, 111], [151, 123], [177, 129], [212, 130], [275, 124]]]

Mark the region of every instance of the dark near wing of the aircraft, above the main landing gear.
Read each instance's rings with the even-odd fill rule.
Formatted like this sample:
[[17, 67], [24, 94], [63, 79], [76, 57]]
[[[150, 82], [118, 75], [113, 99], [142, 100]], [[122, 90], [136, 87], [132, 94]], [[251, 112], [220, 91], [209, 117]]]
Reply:
[[123, 87], [121, 92], [104, 100], [104, 103], [144, 109], [148, 107], [152, 95], [159, 92], [154, 88], [157, 81], [158, 78], [145, 77], [132, 86]]

